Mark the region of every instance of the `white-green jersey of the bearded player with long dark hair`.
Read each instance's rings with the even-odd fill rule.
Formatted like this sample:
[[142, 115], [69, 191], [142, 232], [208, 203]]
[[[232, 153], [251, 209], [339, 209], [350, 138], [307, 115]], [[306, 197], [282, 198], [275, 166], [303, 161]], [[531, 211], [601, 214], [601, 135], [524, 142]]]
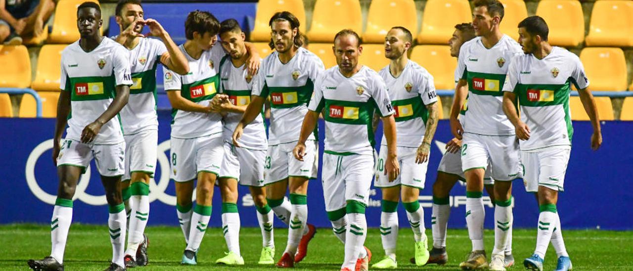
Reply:
[[[303, 47], [285, 64], [279, 60], [277, 51], [263, 60], [253, 95], [270, 96], [270, 145], [299, 140], [314, 82], [323, 69], [323, 61]], [[308, 139], [315, 136], [310, 135]]]

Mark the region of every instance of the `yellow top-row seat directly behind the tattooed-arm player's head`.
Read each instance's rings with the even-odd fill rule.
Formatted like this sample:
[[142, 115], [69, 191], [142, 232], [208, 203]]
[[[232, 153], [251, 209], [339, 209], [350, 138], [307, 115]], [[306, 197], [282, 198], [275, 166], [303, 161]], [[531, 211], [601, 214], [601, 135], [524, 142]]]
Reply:
[[373, 0], [369, 6], [363, 42], [385, 42], [385, 35], [396, 25], [407, 28], [415, 39], [418, 15], [413, 0]]

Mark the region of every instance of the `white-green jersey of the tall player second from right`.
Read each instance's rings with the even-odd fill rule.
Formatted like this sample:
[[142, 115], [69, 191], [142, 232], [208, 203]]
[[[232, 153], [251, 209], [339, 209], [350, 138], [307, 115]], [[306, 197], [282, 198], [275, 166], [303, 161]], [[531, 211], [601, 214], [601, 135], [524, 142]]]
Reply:
[[521, 46], [503, 35], [490, 49], [481, 37], [465, 42], [460, 49], [457, 73], [468, 81], [468, 108], [464, 132], [485, 136], [512, 136], [515, 129], [503, 113], [503, 92], [508, 66], [513, 56], [523, 54]]

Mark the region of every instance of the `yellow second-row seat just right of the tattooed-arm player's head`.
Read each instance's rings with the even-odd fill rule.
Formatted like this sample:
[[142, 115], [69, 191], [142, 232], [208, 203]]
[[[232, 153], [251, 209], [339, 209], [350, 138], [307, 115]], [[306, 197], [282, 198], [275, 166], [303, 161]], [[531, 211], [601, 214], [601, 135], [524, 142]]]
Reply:
[[455, 89], [455, 68], [457, 59], [451, 56], [451, 48], [446, 45], [418, 45], [413, 47], [411, 60], [426, 68], [435, 82], [436, 89]]

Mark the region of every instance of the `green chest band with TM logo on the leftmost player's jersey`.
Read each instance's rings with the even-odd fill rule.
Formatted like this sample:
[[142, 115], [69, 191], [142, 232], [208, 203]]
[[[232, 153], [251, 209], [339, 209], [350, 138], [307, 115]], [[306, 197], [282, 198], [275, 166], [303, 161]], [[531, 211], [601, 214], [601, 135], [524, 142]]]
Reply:
[[66, 90], [71, 101], [97, 101], [115, 98], [115, 77], [67, 77]]

